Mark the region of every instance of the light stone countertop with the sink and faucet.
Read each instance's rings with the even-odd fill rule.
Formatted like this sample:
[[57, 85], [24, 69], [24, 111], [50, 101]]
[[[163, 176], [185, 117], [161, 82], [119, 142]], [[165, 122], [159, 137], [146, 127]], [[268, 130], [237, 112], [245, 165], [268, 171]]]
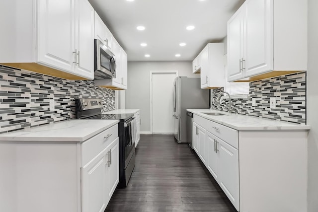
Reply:
[[[309, 125], [299, 125], [284, 121], [275, 121], [261, 117], [246, 116], [240, 114], [229, 114], [228, 112], [210, 110], [210, 109], [187, 109], [195, 115], [209, 119], [216, 123], [225, 125], [235, 130], [310, 130]], [[224, 116], [211, 116], [204, 114], [206, 112], [211, 113], [223, 113]]]

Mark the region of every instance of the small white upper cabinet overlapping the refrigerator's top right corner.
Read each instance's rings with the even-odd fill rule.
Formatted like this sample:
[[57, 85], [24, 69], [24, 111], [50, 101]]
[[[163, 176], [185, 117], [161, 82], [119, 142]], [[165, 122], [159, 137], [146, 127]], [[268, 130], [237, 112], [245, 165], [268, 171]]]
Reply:
[[201, 88], [224, 86], [224, 43], [209, 43], [199, 54]]

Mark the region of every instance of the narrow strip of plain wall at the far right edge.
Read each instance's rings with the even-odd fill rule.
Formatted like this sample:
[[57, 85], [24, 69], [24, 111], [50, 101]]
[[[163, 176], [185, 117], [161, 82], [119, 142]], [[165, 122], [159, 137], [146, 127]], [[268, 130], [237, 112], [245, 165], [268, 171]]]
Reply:
[[308, 212], [318, 212], [318, 0], [308, 0]]

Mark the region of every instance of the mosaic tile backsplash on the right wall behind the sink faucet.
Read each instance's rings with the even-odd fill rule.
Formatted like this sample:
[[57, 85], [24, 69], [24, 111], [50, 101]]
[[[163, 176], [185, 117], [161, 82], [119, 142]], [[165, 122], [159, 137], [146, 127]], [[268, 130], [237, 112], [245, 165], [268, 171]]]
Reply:
[[[223, 90], [211, 90], [212, 99]], [[270, 97], [276, 97], [275, 109], [269, 107]], [[252, 98], [256, 98], [256, 106], [252, 106]], [[229, 99], [225, 98], [222, 104], [214, 101], [212, 108], [228, 111]], [[232, 112], [306, 124], [306, 72], [250, 82], [247, 98], [232, 99]]]

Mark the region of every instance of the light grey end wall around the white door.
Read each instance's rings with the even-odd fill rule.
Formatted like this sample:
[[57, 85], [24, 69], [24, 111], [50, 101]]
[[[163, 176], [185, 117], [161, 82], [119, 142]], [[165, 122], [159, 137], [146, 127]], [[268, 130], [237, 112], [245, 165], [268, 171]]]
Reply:
[[178, 71], [179, 76], [200, 77], [192, 73], [192, 61], [128, 62], [126, 109], [140, 109], [141, 132], [150, 132], [150, 71]]

